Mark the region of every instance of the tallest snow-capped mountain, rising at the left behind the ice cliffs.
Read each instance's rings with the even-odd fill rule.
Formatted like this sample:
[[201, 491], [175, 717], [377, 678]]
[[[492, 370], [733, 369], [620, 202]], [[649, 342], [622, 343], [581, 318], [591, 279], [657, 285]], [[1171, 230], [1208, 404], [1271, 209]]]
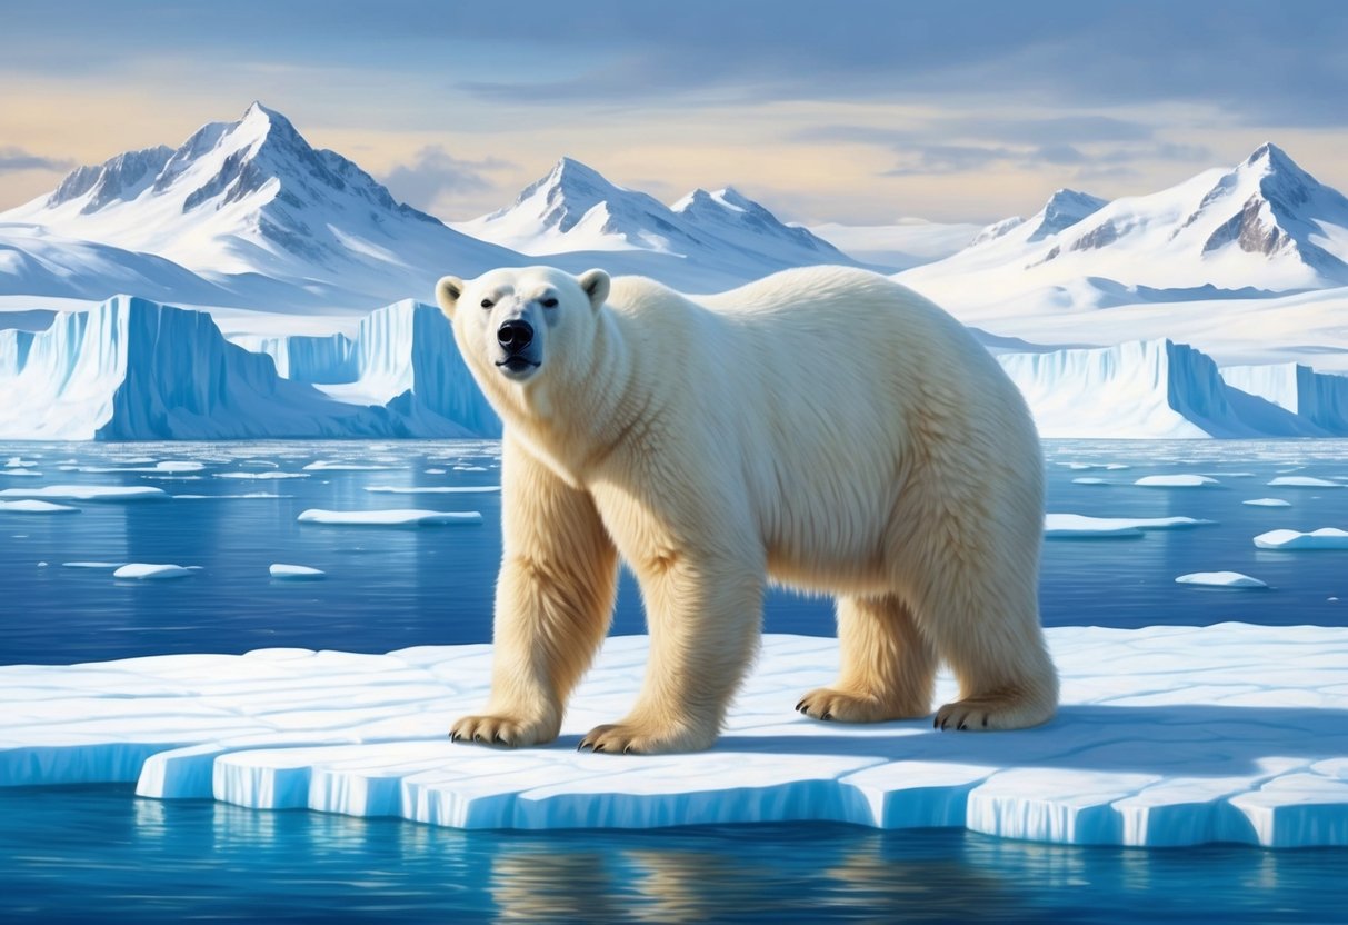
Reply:
[[158, 255], [226, 286], [257, 274], [334, 307], [429, 293], [450, 268], [476, 275], [522, 262], [396, 202], [260, 102], [239, 121], [204, 125], [177, 150], [80, 167], [51, 194], [0, 213], [0, 222]]

